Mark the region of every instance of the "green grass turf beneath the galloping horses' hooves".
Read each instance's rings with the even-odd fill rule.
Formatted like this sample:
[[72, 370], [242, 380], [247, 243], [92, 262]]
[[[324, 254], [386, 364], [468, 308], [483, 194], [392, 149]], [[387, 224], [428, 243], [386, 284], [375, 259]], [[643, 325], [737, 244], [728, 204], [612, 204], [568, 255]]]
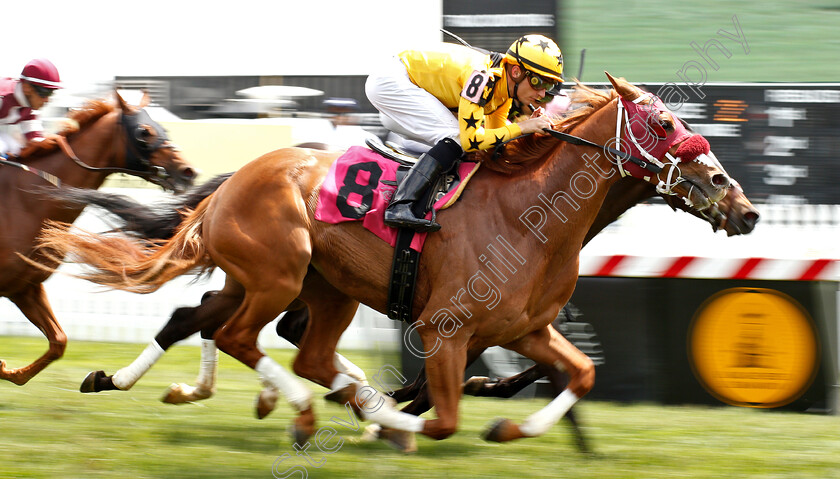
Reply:
[[[71, 342], [65, 357], [24, 387], [0, 384], [0, 477], [278, 477], [305, 466], [308, 477], [343, 478], [673, 478], [840, 477], [840, 418], [731, 407], [663, 407], [583, 401], [576, 409], [595, 454], [577, 452], [565, 422], [545, 436], [509, 444], [482, 441], [496, 417], [521, 421], [545, 400], [467, 398], [460, 431], [444, 441], [418, 438], [404, 455], [380, 443], [359, 443], [359, 432], [330, 421], [343, 409], [316, 391], [318, 427], [334, 426], [344, 443], [333, 454], [313, 446], [308, 465], [295, 455], [286, 427], [291, 409], [280, 403], [254, 417], [256, 374], [221, 355], [217, 395], [199, 404], [159, 402], [171, 382], [191, 382], [196, 347], [174, 347], [128, 392], [81, 394], [85, 374], [113, 373], [140, 344]], [[21, 366], [45, 348], [38, 338], [0, 338], [0, 357]], [[288, 365], [291, 351], [270, 351]], [[395, 363], [379, 353], [346, 355], [368, 375]], [[397, 364], [397, 363], [395, 363]], [[398, 365], [398, 364], [397, 364]], [[333, 438], [328, 444], [336, 445]], [[303, 477], [289, 473], [287, 477]]]

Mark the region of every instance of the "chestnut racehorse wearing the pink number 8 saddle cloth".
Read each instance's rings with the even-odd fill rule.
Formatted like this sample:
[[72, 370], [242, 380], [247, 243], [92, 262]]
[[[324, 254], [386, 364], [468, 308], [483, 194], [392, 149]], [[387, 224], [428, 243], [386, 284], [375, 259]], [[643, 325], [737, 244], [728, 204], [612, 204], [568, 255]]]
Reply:
[[[684, 144], [698, 144], [695, 136], [678, 138], [674, 132], [680, 131], [679, 122], [661, 102], [624, 80], [609, 78], [617, 94], [591, 92], [591, 107], [557, 128], [603, 145], [614, 137], [617, 122], [625, 122], [620, 105], [650, 103], [667, 132], [665, 150], [676, 158], [660, 175], [643, 171], [645, 181], [698, 210], [723, 198], [729, 179], [708, 150], [682, 159], [678, 154]], [[565, 370], [568, 388], [546, 408], [521, 426], [501, 421], [488, 434], [488, 439], [508, 441], [544, 433], [594, 382], [592, 362], [550, 323], [571, 296], [580, 245], [619, 177], [616, 163], [595, 153], [541, 135], [511, 142], [500, 158], [488, 152], [468, 158], [483, 160], [484, 167], [461, 200], [439, 215], [443, 229], [424, 246], [414, 303], [417, 319], [412, 326], [426, 352], [437, 414], [429, 420], [396, 411], [389, 398], [340, 374], [333, 364], [336, 344], [359, 302], [385, 310], [392, 252], [358, 223], [315, 221], [319, 186], [336, 153], [285, 149], [252, 161], [201, 202], [171, 240], [151, 248], [125, 236], [77, 234], [60, 226], [50, 229], [42, 244], [59, 257], [72, 251], [92, 268], [85, 278], [127, 291], [151, 292], [181, 274], [220, 267], [227, 273], [220, 294], [244, 292], [244, 300], [215, 334], [216, 345], [284, 393], [300, 413], [295, 431], [301, 444], [314, 432], [311, 393], [256, 343], [260, 330], [296, 299], [308, 306], [310, 324], [294, 361], [295, 373], [330, 388], [331, 400], [350, 404], [365, 419], [397, 431], [435, 439], [455, 432], [469, 348], [501, 345]], [[581, 177], [589, 182], [585, 194], [580, 184], [570, 183]], [[574, 195], [570, 204], [576, 207], [565, 211], [566, 221], [543, 222], [537, 234], [521, 217], [539, 204], [540, 195], [552, 200], [554, 210], [564, 206], [554, 199]], [[668, 240], [661, 233], [652, 239]], [[488, 250], [500, 252], [492, 267], [485, 264]]]

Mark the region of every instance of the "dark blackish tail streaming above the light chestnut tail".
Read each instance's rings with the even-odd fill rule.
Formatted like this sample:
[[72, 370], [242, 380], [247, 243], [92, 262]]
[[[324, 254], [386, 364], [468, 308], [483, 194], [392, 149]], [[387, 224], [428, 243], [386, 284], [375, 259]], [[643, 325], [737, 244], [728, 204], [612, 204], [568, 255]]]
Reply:
[[48, 188], [44, 194], [70, 206], [94, 205], [110, 213], [109, 225], [138, 238], [168, 239], [181, 224], [183, 214], [215, 192], [233, 173], [218, 175], [186, 193], [145, 205], [124, 195], [87, 188]]

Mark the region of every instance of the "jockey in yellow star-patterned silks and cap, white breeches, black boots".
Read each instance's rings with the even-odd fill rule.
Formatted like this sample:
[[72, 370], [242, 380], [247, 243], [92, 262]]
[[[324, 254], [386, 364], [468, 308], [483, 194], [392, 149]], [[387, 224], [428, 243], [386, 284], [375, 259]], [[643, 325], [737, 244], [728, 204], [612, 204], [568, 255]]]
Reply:
[[562, 73], [557, 45], [542, 35], [525, 35], [504, 55], [451, 43], [434, 50], [407, 50], [384, 71], [370, 75], [365, 92], [382, 124], [431, 146], [397, 187], [385, 224], [440, 229], [416, 217], [412, 204], [465, 151], [486, 150], [551, 127], [542, 111], [518, 123], [508, 121], [508, 112], [514, 103], [539, 103], [546, 90], [563, 81]]

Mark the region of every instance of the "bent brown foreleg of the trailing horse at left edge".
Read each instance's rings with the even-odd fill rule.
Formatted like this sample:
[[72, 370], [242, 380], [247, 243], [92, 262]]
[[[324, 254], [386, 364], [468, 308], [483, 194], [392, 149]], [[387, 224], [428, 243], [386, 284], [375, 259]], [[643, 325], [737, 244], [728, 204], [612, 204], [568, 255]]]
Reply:
[[67, 347], [67, 335], [64, 334], [64, 330], [61, 329], [61, 325], [58, 324], [58, 320], [50, 308], [43, 284], [34, 284], [18, 294], [9, 296], [9, 300], [20, 309], [26, 319], [44, 333], [49, 342], [47, 352], [28, 366], [7, 369], [6, 362], [0, 360], [0, 379], [23, 386], [51, 362], [64, 355], [64, 349]]

